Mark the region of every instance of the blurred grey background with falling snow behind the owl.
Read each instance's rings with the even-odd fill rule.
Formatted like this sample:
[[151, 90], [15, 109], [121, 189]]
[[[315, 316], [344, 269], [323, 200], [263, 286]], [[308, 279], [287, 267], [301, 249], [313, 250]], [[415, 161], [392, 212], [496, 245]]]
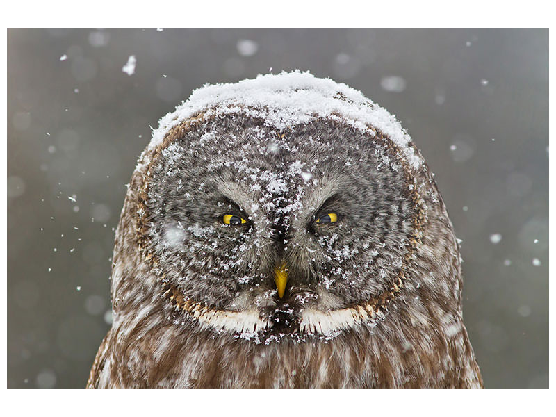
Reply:
[[463, 240], [485, 386], [547, 388], [548, 30], [170, 28], [8, 30], [8, 388], [85, 386], [151, 126], [204, 83], [270, 68], [397, 115]]

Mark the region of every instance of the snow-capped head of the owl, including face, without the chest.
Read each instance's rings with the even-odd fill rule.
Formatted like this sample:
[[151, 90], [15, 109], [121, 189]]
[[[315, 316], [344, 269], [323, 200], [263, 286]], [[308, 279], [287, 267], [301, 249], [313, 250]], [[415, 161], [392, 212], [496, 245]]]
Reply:
[[[116, 318], [163, 309], [268, 344], [372, 329], [420, 285], [459, 303], [457, 243], [411, 139], [309, 73], [195, 90], [154, 131], [124, 213]], [[442, 231], [438, 247], [424, 227]]]

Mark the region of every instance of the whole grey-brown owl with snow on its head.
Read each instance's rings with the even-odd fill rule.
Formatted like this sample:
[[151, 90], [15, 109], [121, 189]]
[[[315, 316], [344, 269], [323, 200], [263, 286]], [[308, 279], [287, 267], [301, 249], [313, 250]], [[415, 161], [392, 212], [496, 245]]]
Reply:
[[309, 72], [160, 120], [111, 299], [88, 388], [482, 388], [432, 173], [395, 117]]

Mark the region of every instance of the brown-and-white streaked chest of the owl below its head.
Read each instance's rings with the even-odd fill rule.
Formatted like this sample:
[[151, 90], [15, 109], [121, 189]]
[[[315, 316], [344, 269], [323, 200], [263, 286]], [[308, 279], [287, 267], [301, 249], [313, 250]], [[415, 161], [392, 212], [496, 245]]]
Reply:
[[[375, 332], [344, 332], [331, 340], [308, 338], [255, 343], [224, 332], [185, 332], [152, 326], [138, 338], [115, 331], [120, 348], [100, 371], [99, 386], [161, 389], [369, 389], [464, 387], [477, 372], [463, 370], [466, 338], [450, 343], [390, 340]], [[126, 337], [124, 337], [126, 336]], [[461, 336], [465, 336], [462, 334]], [[465, 339], [465, 340], [464, 340]], [[425, 340], [425, 339], [423, 339]], [[442, 342], [442, 343], [441, 343]], [[400, 348], [400, 345], [404, 346]], [[456, 348], [457, 347], [457, 348]], [[460, 348], [461, 347], [461, 348]], [[106, 384], [103, 383], [106, 382]], [[471, 384], [473, 385], [473, 384]]]

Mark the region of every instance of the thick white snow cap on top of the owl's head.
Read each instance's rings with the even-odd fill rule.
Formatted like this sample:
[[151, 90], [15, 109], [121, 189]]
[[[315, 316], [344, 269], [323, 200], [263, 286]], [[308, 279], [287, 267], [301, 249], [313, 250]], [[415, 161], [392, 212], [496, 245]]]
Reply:
[[[391, 138], [412, 167], [418, 168], [422, 162], [409, 146], [411, 138], [400, 122], [384, 108], [344, 83], [299, 70], [259, 75], [237, 83], [206, 84], [194, 90], [187, 101], [159, 120], [146, 152], [161, 145], [173, 126], [199, 113], [207, 117], [244, 113], [263, 117], [268, 126], [277, 129], [309, 123], [318, 117], [343, 122], [370, 134], [374, 127]], [[144, 156], [145, 153], [137, 169], [145, 164]]]

